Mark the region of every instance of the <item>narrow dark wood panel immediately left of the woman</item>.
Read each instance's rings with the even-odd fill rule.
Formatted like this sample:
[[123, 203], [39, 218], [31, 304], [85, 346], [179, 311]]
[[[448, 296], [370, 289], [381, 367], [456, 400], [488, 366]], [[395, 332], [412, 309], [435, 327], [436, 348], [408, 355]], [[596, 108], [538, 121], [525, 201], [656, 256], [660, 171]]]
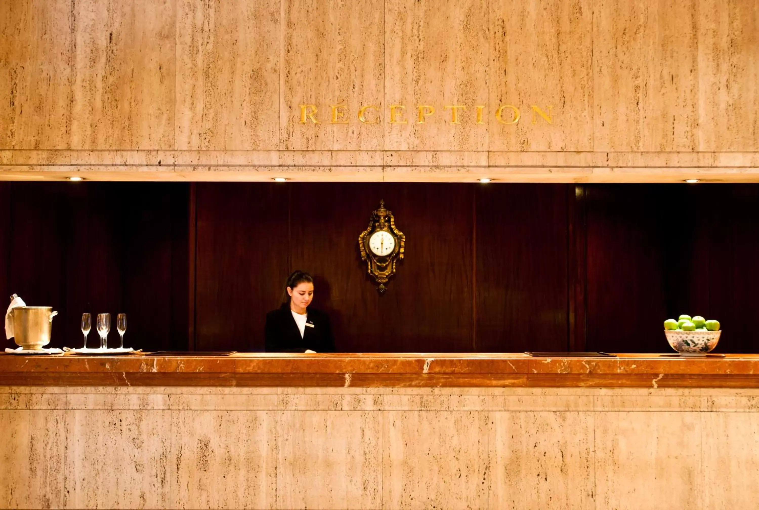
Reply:
[[275, 183], [197, 184], [198, 351], [263, 349], [265, 313], [278, 306], [291, 267], [289, 190]]

